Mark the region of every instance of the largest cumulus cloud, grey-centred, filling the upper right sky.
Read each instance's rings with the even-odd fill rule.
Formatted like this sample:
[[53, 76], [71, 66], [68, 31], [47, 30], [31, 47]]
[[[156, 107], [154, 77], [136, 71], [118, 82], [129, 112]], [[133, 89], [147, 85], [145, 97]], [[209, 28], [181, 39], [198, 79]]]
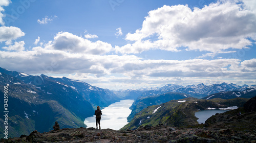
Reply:
[[[134, 41], [117, 47], [119, 53], [141, 53], [151, 49], [220, 52], [242, 49], [256, 39], [256, 15], [252, 7], [237, 1], [218, 1], [202, 9], [191, 10], [187, 5], [163, 6], [148, 12], [142, 28], [128, 33]], [[144, 43], [148, 46], [144, 46]]]

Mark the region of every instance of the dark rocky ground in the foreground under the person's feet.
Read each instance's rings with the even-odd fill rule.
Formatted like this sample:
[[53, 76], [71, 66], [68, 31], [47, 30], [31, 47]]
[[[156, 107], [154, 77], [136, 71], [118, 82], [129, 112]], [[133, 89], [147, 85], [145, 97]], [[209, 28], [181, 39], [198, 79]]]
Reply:
[[176, 128], [145, 126], [137, 130], [116, 131], [95, 128], [60, 129], [29, 136], [2, 140], [2, 142], [256, 142], [255, 130], [237, 131], [230, 128], [211, 129], [206, 127]]

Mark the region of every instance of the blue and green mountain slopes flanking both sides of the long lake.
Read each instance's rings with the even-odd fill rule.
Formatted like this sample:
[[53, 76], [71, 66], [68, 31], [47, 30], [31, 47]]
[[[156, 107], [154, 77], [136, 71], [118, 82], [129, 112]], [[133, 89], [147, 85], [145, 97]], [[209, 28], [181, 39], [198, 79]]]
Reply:
[[[34, 130], [48, 132], [55, 121], [60, 128], [86, 128], [84, 118], [92, 116], [97, 105], [104, 108], [121, 100], [134, 100], [127, 117], [129, 124], [121, 130], [136, 130], [146, 125], [196, 126], [196, 111], [242, 107], [256, 94], [253, 85], [227, 83], [186, 87], [168, 84], [161, 88], [111, 91], [66, 77], [32, 76], [4, 68], [0, 68], [0, 73], [0, 85], [9, 85], [9, 137], [28, 135]], [[200, 99], [202, 96], [205, 97]], [[0, 102], [3, 103], [3, 98]], [[4, 124], [4, 118], [0, 118], [0, 123]]]

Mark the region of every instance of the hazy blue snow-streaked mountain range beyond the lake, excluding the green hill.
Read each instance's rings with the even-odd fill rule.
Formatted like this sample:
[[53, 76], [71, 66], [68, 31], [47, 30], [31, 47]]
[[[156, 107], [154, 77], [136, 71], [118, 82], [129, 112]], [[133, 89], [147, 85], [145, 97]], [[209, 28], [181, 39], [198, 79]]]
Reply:
[[[57, 121], [60, 128], [86, 127], [84, 118], [92, 116], [96, 106], [107, 107], [124, 99], [133, 99], [130, 107], [134, 116], [152, 105], [161, 105], [171, 100], [191, 97], [251, 98], [256, 86], [235, 84], [213, 84], [181, 86], [168, 84], [160, 88], [140, 88], [111, 91], [86, 82], [66, 77], [54, 78], [46, 75], [33, 76], [0, 67], [0, 96], [4, 97], [4, 86], [8, 86], [8, 126], [10, 137], [29, 134], [33, 130], [45, 132]], [[241, 96], [240, 96], [241, 94]], [[218, 95], [218, 96], [217, 96]], [[4, 98], [0, 98], [4, 103]], [[4, 111], [1, 108], [0, 111]], [[4, 118], [0, 118], [4, 125]], [[3, 130], [0, 130], [0, 137]]]

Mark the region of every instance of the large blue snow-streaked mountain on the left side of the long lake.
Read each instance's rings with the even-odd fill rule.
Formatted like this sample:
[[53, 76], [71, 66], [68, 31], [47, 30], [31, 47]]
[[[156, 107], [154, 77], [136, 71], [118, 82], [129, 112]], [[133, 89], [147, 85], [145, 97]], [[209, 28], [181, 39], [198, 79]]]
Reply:
[[[8, 87], [9, 137], [33, 130], [50, 131], [55, 121], [61, 128], [86, 127], [84, 118], [94, 114], [96, 105], [106, 107], [120, 99], [108, 89], [81, 81], [31, 76], [4, 68], [0, 68], [0, 85]], [[4, 103], [4, 91], [0, 89], [1, 103]], [[4, 112], [4, 108], [1, 111]], [[2, 125], [4, 120], [0, 118]], [[3, 127], [0, 137], [3, 137]]]

